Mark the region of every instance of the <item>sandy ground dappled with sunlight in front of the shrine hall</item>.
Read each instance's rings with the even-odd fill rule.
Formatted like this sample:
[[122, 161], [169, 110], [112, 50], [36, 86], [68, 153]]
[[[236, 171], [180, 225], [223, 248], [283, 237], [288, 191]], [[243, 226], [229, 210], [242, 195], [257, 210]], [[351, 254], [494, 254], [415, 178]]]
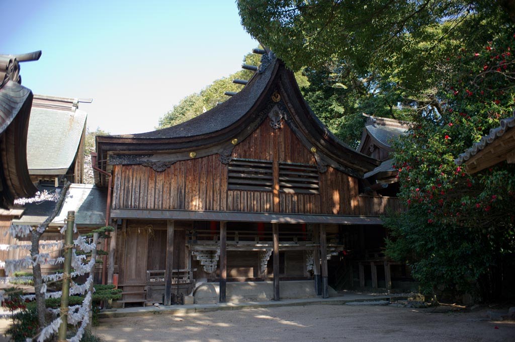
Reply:
[[515, 322], [485, 317], [485, 311], [437, 314], [431, 309], [310, 305], [110, 318], [101, 320], [94, 333], [120, 342], [515, 341]]

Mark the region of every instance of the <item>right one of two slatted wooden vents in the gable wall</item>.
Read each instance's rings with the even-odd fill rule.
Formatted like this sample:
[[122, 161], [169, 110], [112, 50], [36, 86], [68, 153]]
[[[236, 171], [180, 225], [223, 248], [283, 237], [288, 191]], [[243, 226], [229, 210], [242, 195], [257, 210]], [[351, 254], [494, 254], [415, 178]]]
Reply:
[[279, 163], [279, 189], [286, 193], [319, 193], [316, 165]]

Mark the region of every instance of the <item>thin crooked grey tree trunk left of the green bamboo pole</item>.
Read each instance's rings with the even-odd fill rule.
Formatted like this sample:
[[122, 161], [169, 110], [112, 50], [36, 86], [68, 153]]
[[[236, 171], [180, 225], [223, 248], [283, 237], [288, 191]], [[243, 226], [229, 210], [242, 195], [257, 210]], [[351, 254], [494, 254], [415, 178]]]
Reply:
[[[52, 214], [46, 218], [45, 222], [43, 222], [38, 228], [32, 230], [31, 237], [31, 247], [30, 247], [30, 256], [35, 258], [39, 254], [39, 240], [43, 235], [43, 232], [46, 230], [50, 222], [55, 219], [59, 211], [61, 211], [61, 207], [64, 203], [64, 199], [66, 198], [66, 193], [68, 189], [70, 189], [70, 182], [66, 182], [61, 190], [61, 194], [59, 195], [59, 200], [57, 200], [56, 207]], [[39, 229], [39, 230], [38, 230]], [[45, 305], [45, 293], [41, 293], [41, 286], [43, 286], [43, 277], [41, 275], [41, 265], [36, 264], [32, 267], [32, 278], [34, 280], [34, 292], [36, 294], [36, 308], [38, 310], [38, 323], [39, 328], [43, 329], [46, 326], [46, 305]]]

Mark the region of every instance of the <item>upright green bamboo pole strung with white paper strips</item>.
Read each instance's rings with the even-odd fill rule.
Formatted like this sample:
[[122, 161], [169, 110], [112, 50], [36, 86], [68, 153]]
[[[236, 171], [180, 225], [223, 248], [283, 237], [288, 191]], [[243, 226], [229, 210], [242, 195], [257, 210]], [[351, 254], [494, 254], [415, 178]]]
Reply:
[[58, 342], [66, 342], [66, 328], [68, 326], [68, 299], [70, 297], [70, 274], [72, 271], [73, 224], [75, 211], [68, 211], [66, 223], [66, 243], [64, 245], [64, 272], [61, 295], [61, 325], [58, 331]]

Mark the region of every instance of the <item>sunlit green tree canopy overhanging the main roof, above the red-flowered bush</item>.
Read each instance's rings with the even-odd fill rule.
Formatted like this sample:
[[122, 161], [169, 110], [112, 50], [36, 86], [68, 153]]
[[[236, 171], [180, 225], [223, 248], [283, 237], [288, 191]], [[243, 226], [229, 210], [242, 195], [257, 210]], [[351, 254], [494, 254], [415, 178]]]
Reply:
[[411, 120], [439, 112], [444, 56], [491, 40], [509, 16], [495, 2], [239, 0], [247, 31], [293, 70], [306, 68], [307, 102], [356, 147], [362, 113]]

